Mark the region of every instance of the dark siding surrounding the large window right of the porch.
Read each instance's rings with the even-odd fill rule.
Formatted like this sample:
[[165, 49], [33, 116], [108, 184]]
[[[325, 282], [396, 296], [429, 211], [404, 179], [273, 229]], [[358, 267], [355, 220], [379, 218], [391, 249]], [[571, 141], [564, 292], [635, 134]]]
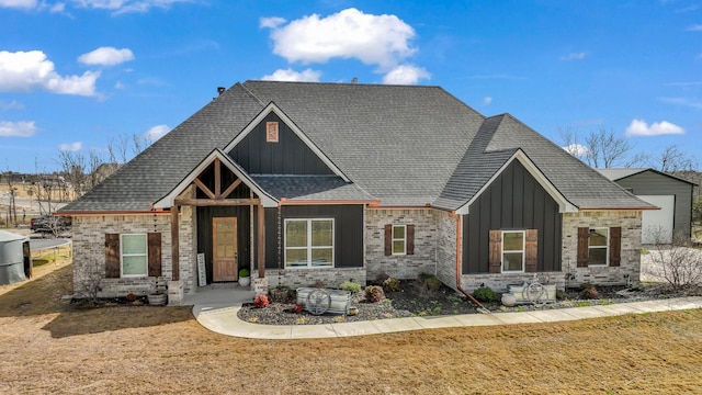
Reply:
[[[285, 219], [333, 218], [333, 267], [363, 267], [363, 205], [290, 205], [282, 206], [279, 229], [279, 208], [265, 208], [265, 268], [284, 269]], [[280, 236], [280, 241], [279, 241]], [[279, 255], [279, 244], [280, 251]], [[299, 269], [304, 270], [304, 269]]]

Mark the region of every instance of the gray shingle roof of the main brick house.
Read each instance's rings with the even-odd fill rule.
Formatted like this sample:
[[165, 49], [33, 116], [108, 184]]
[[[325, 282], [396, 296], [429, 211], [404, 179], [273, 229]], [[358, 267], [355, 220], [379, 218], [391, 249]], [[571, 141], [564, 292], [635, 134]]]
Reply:
[[645, 205], [510, 115], [486, 120], [439, 87], [247, 81], [63, 211], [148, 211], [271, 102], [352, 181], [252, 174], [274, 196], [454, 210], [521, 148], [581, 208]]

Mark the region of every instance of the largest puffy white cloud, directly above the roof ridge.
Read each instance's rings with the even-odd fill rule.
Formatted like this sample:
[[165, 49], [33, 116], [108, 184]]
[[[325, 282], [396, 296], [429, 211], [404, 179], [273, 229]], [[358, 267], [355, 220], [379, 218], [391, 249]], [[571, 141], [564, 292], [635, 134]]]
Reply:
[[[267, 19], [267, 23], [280, 20]], [[355, 58], [366, 65], [392, 69], [417, 50], [409, 42], [415, 30], [395, 15], [365, 14], [347, 9], [320, 18], [312, 14], [272, 27], [273, 53], [287, 61], [326, 63]]]

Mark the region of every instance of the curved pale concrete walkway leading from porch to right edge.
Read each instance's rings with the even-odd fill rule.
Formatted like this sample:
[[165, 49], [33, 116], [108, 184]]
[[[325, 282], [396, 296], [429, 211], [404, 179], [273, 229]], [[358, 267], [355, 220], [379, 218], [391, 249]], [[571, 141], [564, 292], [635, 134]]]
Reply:
[[203, 327], [217, 334], [249, 339], [339, 338], [434, 328], [553, 323], [624, 314], [702, 308], [702, 296], [694, 296], [523, 313], [388, 318], [325, 325], [261, 325], [242, 321], [237, 317], [241, 303], [252, 300], [253, 293], [249, 291], [210, 290], [188, 295], [183, 304], [193, 304], [193, 315]]

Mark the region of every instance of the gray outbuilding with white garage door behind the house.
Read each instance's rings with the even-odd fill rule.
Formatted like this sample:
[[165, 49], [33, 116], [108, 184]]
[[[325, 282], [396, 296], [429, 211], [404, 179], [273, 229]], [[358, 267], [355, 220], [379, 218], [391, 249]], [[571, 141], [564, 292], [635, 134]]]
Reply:
[[692, 190], [686, 179], [654, 169], [598, 169], [638, 199], [660, 207], [644, 212], [642, 244], [672, 241], [673, 233], [691, 237]]

